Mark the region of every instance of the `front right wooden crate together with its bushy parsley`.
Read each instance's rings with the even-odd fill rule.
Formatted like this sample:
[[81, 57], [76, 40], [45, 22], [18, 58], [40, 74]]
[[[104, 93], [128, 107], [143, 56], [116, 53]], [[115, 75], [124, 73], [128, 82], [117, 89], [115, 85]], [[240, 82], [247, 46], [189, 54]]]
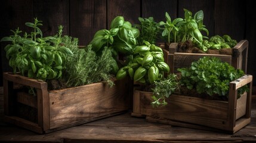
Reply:
[[[178, 71], [181, 73], [171, 84], [178, 82], [180, 88], [168, 97], [159, 95], [160, 101], [152, 98], [152, 92], [134, 91], [132, 115], [146, 116], [150, 122], [229, 133], [248, 125], [251, 75], [216, 57], [200, 58]], [[158, 108], [152, 107], [156, 102]]]

